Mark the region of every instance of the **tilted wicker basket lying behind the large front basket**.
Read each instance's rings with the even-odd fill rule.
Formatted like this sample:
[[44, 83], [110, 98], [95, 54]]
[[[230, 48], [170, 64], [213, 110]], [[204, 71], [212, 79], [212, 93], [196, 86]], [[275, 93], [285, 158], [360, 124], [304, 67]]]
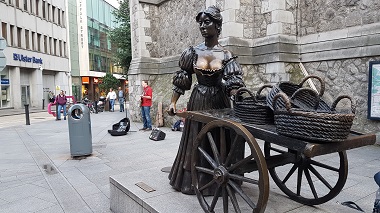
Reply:
[[[271, 91], [269, 92], [269, 94], [267, 96], [268, 106], [273, 110], [274, 107], [273, 107], [272, 104], [273, 104], [273, 98], [274, 98], [274, 96], [276, 96], [280, 92], [283, 92], [288, 97], [291, 97], [291, 96], [293, 96], [293, 94], [298, 89], [302, 88], [303, 84], [308, 79], [310, 79], [310, 78], [315, 78], [320, 83], [321, 89], [320, 89], [320, 91], [318, 93], [319, 97], [320, 97], [319, 105], [315, 106], [314, 105], [314, 99], [310, 98], [309, 92], [308, 91], [304, 91], [302, 94], [297, 95], [297, 97], [295, 99], [291, 100], [292, 107], [294, 107], [294, 108], [302, 108], [302, 109], [310, 109], [310, 110], [317, 108], [319, 111], [330, 112], [331, 111], [330, 107], [321, 98], [322, 95], [325, 92], [325, 83], [324, 83], [324, 81], [320, 77], [315, 76], [315, 75], [306, 76], [301, 81], [301, 83], [299, 83], [299, 84], [295, 84], [295, 83], [292, 83], [292, 82], [289, 82], [289, 81], [284, 81], [284, 82], [277, 83], [276, 85], [274, 85], [272, 87]], [[277, 104], [278, 104], [277, 107], [279, 107], [279, 108], [285, 108], [285, 103], [284, 103], [283, 100], [278, 100]]]

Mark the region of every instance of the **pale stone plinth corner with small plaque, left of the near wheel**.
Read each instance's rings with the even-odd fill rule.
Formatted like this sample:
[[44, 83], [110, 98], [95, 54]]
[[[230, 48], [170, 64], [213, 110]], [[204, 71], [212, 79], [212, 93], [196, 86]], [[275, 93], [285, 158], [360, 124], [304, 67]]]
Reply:
[[[143, 182], [155, 191], [146, 192], [136, 183]], [[115, 213], [202, 213], [195, 195], [184, 195], [169, 185], [168, 173], [160, 168], [110, 177], [110, 208]]]

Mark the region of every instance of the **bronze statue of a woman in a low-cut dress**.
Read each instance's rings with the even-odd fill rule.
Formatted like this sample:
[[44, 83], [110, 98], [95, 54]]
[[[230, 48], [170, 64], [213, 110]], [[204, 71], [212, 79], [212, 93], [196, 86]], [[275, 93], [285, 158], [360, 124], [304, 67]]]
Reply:
[[[243, 72], [235, 60], [236, 57], [218, 42], [222, 29], [220, 10], [215, 6], [208, 7], [198, 13], [196, 21], [204, 37], [204, 43], [189, 47], [180, 57], [181, 70], [173, 77], [170, 115], [176, 113], [178, 98], [185, 93], [185, 90], [190, 89], [192, 74], [196, 75], [198, 84], [191, 93], [187, 105], [189, 111], [229, 108], [229, 96], [244, 86]], [[194, 194], [191, 186], [191, 151], [193, 141], [202, 126], [199, 122], [186, 119], [178, 153], [169, 174], [173, 188], [185, 194]], [[202, 182], [202, 178], [199, 181]]]

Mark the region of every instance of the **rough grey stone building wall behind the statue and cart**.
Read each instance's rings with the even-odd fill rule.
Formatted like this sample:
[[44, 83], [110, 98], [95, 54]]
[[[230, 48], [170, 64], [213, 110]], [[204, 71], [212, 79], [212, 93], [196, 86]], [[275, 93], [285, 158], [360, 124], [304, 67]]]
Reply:
[[[380, 61], [378, 0], [130, 0], [133, 120], [140, 119], [141, 80], [151, 84], [155, 104], [169, 106], [179, 55], [203, 41], [195, 16], [210, 5], [221, 8], [220, 43], [239, 57], [248, 88], [299, 82], [305, 72], [317, 75], [330, 104], [342, 94], [353, 97], [354, 129], [380, 131], [379, 121], [367, 119], [369, 62]], [[178, 108], [186, 106], [189, 94], [181, 96]], [[152, 117], [156, 111], [155, 105]], [[169, 126], [174, 118], [164, 119]]]

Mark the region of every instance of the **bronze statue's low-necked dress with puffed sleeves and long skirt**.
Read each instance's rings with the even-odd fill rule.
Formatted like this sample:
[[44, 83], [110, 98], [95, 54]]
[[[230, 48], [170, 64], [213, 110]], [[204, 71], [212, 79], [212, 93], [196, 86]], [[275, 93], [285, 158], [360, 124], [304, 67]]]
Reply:
[[[230, 91], [244, 86], [240, 65], [230, 52], [219, 50], [223, 51], [225, 56], [222, 67], [218, 70], [200, 69], [196, 66], [196, 48], [189, 47], [182, 53], [179, 61], [181, 70], [173, 77], [173, 90], [184, 94], [185, 90], [190, 89], [192, 74], [195, 73], [198, 84], [193, 88], [187, 110], [230, 108]], [[186, 119], [178, 153], [169, 174], [172, 187], [184, 194], [194, 194], [191, 186], [191, 152], [193, 141], [203, 126], [202, 123]], [[200, 177], [199, 181], [208, 182], [207, 178], [202, 180]]]

